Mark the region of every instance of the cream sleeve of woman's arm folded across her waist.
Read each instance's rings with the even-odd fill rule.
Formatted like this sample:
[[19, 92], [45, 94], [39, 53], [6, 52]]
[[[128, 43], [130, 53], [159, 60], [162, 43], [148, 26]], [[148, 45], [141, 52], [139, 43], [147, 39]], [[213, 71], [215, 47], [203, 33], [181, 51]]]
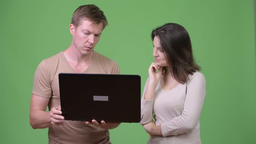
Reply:
[[178, 135], [191, 131], [199, 123], [205, 95], [205, 77], [197, 72], [191, 76], [187, 83], [187, 94], [181, 115], [161, 124], [163, 136]]

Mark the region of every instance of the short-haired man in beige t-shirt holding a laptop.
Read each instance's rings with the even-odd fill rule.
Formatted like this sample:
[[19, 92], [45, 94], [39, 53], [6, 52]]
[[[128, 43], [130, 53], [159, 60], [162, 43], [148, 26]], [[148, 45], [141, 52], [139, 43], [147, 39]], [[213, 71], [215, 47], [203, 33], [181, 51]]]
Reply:
[[[60, 72], [119, 74], [116, 62], [94, 51], [108, 21], [95, 5], [78, 7], [69, 26], [68, 49], [44, 59], [37, 67], [30, 103], [30, 125], [49, 128], [49, 144], [111, 144], [108, 129], [120, 123], [65, 121], [59, 100]], [[50, 111], [46, 111], [48, 106]], [[84, 115], [84, 114], [81, 114]]]

